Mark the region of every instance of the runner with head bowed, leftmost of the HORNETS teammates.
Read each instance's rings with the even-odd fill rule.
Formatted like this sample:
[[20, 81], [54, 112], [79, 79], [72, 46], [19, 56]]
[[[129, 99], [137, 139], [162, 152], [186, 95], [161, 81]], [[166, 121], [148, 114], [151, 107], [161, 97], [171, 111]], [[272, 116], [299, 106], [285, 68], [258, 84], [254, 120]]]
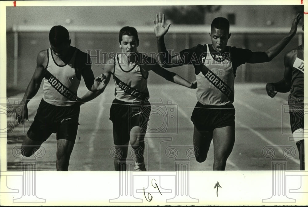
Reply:
[[57, 137], [57, 170], [68, 170], [74, 147], [79, 117], [75, 104], [81, 76], [90, 91], [103, 87], [103, 74], [94, 78], [89, 55], [70, 46], [69, 33], [63, 26], [54, 26], [49, 32], [51, 48], [37, 57], [34, 75], [21, 101], [25, 111], [17, 112], [16, 119], [28, 120], [27, 104], [38, 92], [44, 79], [44, 98], [22, 142], [21, 152], [31, 156], [52, 133]]

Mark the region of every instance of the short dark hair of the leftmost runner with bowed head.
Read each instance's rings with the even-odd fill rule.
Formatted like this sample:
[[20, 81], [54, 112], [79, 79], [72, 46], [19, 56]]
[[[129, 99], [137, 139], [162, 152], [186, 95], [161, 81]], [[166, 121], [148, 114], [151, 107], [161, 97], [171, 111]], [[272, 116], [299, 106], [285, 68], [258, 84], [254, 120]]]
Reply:
[[68, 42], [70, 34], [68, 30], [61, 25], [53, 26], [49, 31], [49, 42], [51, 45], [56, 46]]

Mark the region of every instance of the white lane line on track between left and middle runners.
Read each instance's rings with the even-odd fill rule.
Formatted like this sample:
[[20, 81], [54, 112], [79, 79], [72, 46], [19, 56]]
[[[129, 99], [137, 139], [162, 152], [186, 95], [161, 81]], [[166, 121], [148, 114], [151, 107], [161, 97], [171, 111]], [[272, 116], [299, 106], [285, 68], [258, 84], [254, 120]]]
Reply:
[[84, 166], [85, 170], [91, 170], [91, 161], [93, 160], [92, 159], [92, 156], [93, 156], [93, 151], [94, 151], [94, 140], [95, 138], [97, 137], [96, 134], [99, 130], [99, 128], [101, 127], [101, 119], [102, 119], [102, 115], [103, 115], [103, 112], [104, 112], [104, 100], [105, 100], [105, 94], [101, 94], [100, 95], [100, 101], [99, 101], [99, 112], [97, 113], [97, 117], [96, 117], [96, 121], [95, 121], [95, 128], [93, 130], [93, 132], [91, 133], [91, 137], [89, 139], [89, 153], [88, 153], [88, 156], [87, 156], [87, 160], [86, 160], [86, 164]]

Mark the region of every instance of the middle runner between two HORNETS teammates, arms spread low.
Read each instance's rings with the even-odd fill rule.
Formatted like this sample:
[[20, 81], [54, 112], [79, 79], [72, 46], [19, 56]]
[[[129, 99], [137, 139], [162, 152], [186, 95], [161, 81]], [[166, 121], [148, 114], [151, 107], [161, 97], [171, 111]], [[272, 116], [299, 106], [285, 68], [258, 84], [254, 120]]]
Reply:
[[[120, 156], [114, 159], [115, 170], [126, 170], [126, 157], [128, 143], [131, 144], [136, 160], [135, 170], [146, 170], [144, 162], [144, 135], [150, 116], [151, 105], [147, 101], [149, 97], [147, 78], [152, 70], [165, 79], [189, 88], [196, 88], [195, 82], [190, 83], [173, 72], [167, 71], [157, 64], [156, 60], [146, 55], [137, 53], [139, 45], [138, 33], [134, 27], [123, 27], [119, 33], [119, 47], [122, 53], [110, 60], [110, 64], [104, 66], [104, 74], [107, 76], [106, 85], [113, 75], [115, 81], [115, 99], [110, 108], [110, 120], [113, 123], [113, 139], [115, 151]], [[132, 61], [132, 57], [135, 61]], [[143, 61], [141, 61], [143, 60]], [[98, 92], [88, 92], [80, 101], [86, 102], [94, 99], [104, 89]], [[137, 102], [137, 103], [136, 103]], [[130, 111], [134, 108], [134, 112]]]

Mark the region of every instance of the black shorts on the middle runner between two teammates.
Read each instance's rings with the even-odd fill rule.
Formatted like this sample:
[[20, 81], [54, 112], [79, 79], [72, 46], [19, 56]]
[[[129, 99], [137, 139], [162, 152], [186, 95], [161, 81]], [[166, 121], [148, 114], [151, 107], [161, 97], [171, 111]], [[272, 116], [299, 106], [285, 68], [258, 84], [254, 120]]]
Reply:
[[114, 99], [110, 108], [110, 120], [113, 124], [113, 142], [123, 145], [129, 142], [130, 131], [140, 126], [145, 134], [151, 112], [150, 102], [128, 103]]

